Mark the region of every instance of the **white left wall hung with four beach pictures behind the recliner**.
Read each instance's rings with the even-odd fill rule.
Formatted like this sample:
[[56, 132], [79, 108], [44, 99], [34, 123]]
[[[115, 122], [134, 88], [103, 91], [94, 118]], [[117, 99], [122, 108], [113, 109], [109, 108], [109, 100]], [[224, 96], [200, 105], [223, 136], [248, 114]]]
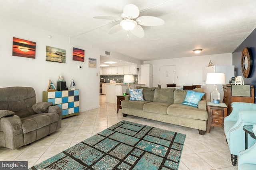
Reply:
[[[92, 46], [88, 42], [84, 42], [88, 48], [76, 47], [69, 43], [68, 37], [7, 18], [0, 18], [0, 23], [0, 88], [30, 86], [36, 91], [37, 102], [42, 102], [42, 91], [47, 90], [49, 79], [57, 86], [58, 76], [63, 75], [68, 87], [74, 79], [77, 89], [80, 90], [80, 111], [100, 106], [99, 63], [100, 55], [105, 54], [104, 49]], [[49, 39], [48, 35], [52, 38]], [[36, 59], [12, 56], [13, 37], [36, 42]], [[65, 49], [66, 63], [45, 61], [46, 45]], [[72, 61], [73, 47], [85, 50], [84, 62]], [[88, 68], [88, 57], [97, 59], [97, 68]], [[83, 66], [83, 69], [78, 69], [78, 65]]]

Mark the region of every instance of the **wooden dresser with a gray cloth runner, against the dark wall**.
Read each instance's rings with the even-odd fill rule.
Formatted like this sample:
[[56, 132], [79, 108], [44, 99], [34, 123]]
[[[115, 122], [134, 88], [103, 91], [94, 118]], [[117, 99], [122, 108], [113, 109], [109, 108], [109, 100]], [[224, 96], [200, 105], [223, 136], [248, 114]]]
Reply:
[[223, 85], [224, 97], [223, 103], [228, 106], [228, 115], [232, 111], [231, 103], [233, 102], [245, 102], [245, 103], [254, 103], [254, 86], [250, 85], [251, 96], [242, 97], [242, 96], [232, 96], [231, 84]]

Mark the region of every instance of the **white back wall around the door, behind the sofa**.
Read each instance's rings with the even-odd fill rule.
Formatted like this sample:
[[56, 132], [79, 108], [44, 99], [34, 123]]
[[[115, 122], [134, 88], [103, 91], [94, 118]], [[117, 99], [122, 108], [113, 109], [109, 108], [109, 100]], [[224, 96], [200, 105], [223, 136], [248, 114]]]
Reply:
[[208, 66], [210, 60], [214, 65], [232, 65], [232, 53], [144, 61], [144, 64], [153, 65], [153, 87], [159, 83], [159, 67], [168, 65], [176, 66], [177, 86], [202, 85], [203, 67]]

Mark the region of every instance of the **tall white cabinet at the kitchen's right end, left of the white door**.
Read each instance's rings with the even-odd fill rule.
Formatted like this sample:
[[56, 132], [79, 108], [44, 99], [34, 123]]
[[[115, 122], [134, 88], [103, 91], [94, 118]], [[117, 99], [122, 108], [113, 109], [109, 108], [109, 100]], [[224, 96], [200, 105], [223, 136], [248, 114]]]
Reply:
[[152, 64], [140, 65], [140, 84], [145, 84], [145, 87], [152, 87]]

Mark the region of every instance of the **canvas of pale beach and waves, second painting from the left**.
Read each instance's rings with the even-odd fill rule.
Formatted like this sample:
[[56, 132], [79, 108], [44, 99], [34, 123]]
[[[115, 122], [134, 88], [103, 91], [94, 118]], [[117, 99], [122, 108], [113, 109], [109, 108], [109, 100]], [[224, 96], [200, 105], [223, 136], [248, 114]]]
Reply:
[[46, 61], [66, 63], [66, 50], [46, 46]]

